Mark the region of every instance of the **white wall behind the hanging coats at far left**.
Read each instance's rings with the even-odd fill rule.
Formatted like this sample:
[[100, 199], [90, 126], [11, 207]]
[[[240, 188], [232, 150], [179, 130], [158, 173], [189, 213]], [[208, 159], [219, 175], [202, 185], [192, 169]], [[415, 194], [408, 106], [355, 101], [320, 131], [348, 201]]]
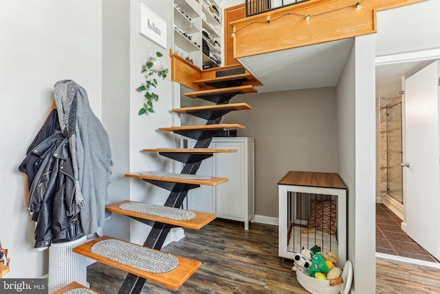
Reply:
[[6, 277], [47, 273], [47, 250], [33, 248], [34, 222], [18, 166], [43, 125], [56, 81], [82, 85], [100, 117], [101, 10], [101, 1], [0, 1], [0, 238], [11, 259]]

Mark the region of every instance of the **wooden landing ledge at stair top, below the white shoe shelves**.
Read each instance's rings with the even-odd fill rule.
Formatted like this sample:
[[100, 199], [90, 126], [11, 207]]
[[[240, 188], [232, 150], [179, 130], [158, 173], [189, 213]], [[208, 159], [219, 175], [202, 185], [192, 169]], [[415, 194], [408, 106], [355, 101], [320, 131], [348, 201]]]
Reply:
[[[201, 70], [199, 67], [181, 58], [181, 56], [173, 53], [170, 49], [171, 58], [171, 81], [186, 85], [190, 89], [195, 91], [209, 90], [212, 87], [204, 85], [204, 81], [217, 81], [226, 78], [235, 78], [236, 76], [248, 78], [248, 81], [243, 85], [261, 86], [258, 81], [243, 65], [230, 65], [216, 67], [209, 70]], [[216, 73], [223, 70], [234, 70], [237, 68], [243, 68], [243, 74], [235, 74], [230, 76], [216, 77]]]

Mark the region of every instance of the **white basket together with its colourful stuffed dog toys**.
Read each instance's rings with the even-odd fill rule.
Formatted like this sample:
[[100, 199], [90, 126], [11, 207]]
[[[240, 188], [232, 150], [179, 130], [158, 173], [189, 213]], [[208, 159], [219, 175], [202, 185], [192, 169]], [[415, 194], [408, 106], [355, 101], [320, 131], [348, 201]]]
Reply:
[[294, 267], [296, 280], [312, 294], [347, 294], [353, 280], [353, 264], [347, 260], [342, 271], [333, 252], [320, 252], [320, 246], [296, 253]]

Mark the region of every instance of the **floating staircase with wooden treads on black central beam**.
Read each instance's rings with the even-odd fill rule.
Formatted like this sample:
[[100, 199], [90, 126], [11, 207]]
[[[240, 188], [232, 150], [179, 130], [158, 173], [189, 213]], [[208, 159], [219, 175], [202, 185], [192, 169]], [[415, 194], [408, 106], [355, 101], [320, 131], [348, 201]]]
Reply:
[[[236, 149], [208, 149], [208, 147], [212, 137], [225, 130], [245, 129], [243, 125], [239, 124], [220, 124], [222, 116], [231, 111], [252, 109], [252, 107], [246, 103], [229, 103], [230, 99], [236, 95], [256, 92], [252, 85], [247, 85], [249, 81], [255, 81], [255, 78], [251, 74], [243, 72], [245, 71], [242, 67], [239, 70], [230, 69], [228, 67], [219, 67], [215, 71], [215, 77], [192, 81], [192, 83], [198, 85], [201, 90], [198, 92], [186, 93], [184, 95], [189, 98], [204, 99], [214, 103], [214, 105], [173, 109], [173, 112], [179, 114], [189, 114], [203, 118], [207, 120], [206, 125], [159, 128], [159, 130], [163, 132], [173, 132], [197, 140], [194, 149], [143, 150], [145, 152], [155, 152], [162, 156], [166, 156], [167, 158], [182, 162], [184, 167], [181, 174], [162, 172], [126, 174], [127, 177], [140, 178], [145, 182], [170, 191], [170, 195], [164, 206], [133, 202], [129, 200], [107, 205], [107, 211], [129, 216], [134, 220], [148, 224], [152, 227], [143, 246], [103, 236], [73, 249], [74, 252], [85, 255], [88, 258], [113, 266], [116, 269], [126, 271], [128, 275], [126, 276], [119, 293], [140, 293], [146, 280], [172, 289], [177, 289], [201, 266], [201, 262], [175, 256], [178, 260], [178, 264], [174, 269], [155, 273], [140, 269], [140, 266], [130, 264], [123, 259], [131, 258], [132, 260], [139, 260], [139, 256], [137, 255], [130, 256], [133, 251], [144, 252], [144, 250], [146, 250], [147, 255], [150, 253], [162, 254], [160, 253], [160, 249], [162, 249], [170, 229], [175, 227], [201, 229], [216, 218], [214, 214], [186, 211], [184, 209], [179, 209], [179, 207], [181, 207], [181, 204], [184, 202], [190, 189], [198, 188], [200, 185], [220, 185], [221, 183], [228, 181], [227, 178], [204, 177], [198, 176], [196, 173], [201, 162], [206, 158], [213, 156], [214, 153], [236, 152]], [[175, 213], [190, 213], [191, 217], [175, 218]], [[121, 250], [120, 258], [117, 256], [117, 258], [113, 259], [107, 256], [107, 253], [104, 253], [104, 255], [102, 255], [102, 253], [96, 253], [94, 248], [96, 247], [96, 244], [102, 244], [100, 242], [115, 242], [114, 244], [122, 244], [120, 247], [122, 249], [118, 249]], [[170, 257], [168, 253], [163, 253], [163, 255]], [[171, 258], [173, 258], [173, 256], [174, 255], [172, 255]], [[162, 255], [160, 255], [159, 259], [162, 260]], [[154, 260], [153, 263], [155, 263], [153, 266], [162, 266], [157, 260]]]

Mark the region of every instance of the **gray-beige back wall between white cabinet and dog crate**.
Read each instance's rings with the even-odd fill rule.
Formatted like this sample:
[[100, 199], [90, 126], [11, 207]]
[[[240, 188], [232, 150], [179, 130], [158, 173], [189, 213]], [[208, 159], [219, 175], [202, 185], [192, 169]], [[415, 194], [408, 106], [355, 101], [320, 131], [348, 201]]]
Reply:
[[[258, 89], [257, 89], [258, 90]], [[288, 171], [338, 171], [336, 88], [237, 95], [252, 110], [230, 112], [238, 136], [255, 138], [255, 213], [278, 218], [278, 185]]]

